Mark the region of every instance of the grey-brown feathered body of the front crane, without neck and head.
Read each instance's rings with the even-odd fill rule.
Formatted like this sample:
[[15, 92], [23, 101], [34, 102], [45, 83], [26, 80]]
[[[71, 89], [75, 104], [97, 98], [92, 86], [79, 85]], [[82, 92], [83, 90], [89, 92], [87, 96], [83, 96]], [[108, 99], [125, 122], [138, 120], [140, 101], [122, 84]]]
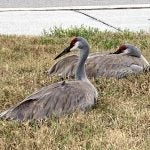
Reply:
[[18, 105], [0, 114], [12, 120], [45, 119], [75, 111], [86, 110], [95, 104], [95, 94], [86, 82], [59, 82], [33, 93]]

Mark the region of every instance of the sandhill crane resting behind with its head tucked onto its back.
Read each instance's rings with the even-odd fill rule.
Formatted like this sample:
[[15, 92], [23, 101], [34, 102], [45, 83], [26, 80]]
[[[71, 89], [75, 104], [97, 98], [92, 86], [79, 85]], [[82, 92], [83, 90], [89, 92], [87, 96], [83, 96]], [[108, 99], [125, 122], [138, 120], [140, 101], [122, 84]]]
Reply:
[[[61, 77], [74, 76], [77, 55], [65, 57], [56, 62], [48, 71], [49, 75]], [[86, 73], [88, 77], [116, 77], [123, 78], [132, 73], [143, 72], [148, 61], [140, 50], [131, 45], [123, 44], [114, 53], [92, 53], [86, 61]]]

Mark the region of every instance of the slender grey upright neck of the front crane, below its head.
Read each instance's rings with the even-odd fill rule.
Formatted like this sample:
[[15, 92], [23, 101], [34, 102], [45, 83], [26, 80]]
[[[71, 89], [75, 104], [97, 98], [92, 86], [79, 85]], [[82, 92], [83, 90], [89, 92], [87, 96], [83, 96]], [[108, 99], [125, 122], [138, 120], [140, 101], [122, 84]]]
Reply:
[[85, 61], [89, 54], [89, 46], [85, 47], [84, 49], [80, 49], [80, 57], [76, 69], [76, 80], [83, 80], [88, 81], [86, 72], [85, 72]]

